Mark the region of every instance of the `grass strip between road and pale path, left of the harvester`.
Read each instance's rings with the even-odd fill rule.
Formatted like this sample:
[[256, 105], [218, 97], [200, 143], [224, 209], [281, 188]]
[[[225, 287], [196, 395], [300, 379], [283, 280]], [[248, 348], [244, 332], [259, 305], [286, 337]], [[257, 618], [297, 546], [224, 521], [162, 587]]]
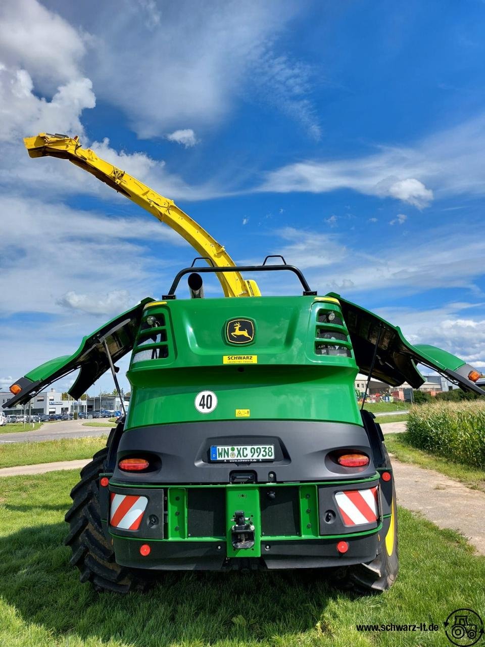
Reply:
[[96, 438], [62, 438], [58, 441], [0, 444], [0, 467], [91, 458], [105, 446], [106, 439], [107, 435]]

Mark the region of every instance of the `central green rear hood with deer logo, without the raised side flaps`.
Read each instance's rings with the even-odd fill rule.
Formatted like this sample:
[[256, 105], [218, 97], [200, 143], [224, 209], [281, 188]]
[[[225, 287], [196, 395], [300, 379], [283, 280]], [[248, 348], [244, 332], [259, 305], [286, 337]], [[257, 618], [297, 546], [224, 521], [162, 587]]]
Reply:
[[[234, 420], [241, 410], [248, 413], [245, 419], [361, 425], [354, 393], [358, 367], [347, 329], [319, 322], [323, 312], [341, 318], [337, 303], [312, 296], [180, 300], [146, 307], [142, 329], [147, 317], [155, 325], [140, 332], [133, 351], [125, 429]], [[254, 323], [248, 344], [228, 341], [227, 324], [238, 318]], [[323, 329], [332, 335], [338, 331], [343, 339], [319, 338]], [[349, 356], [318, 355], [319, 344], [338, 344]], [[150, 358], [151, 351], [162, 347], [165, 356]], [[224, 364], [224, 357], [233, 356], [257, 358], [257, 363]], [[205, 390], [217, 396], [209, 413], [195, 407]]]

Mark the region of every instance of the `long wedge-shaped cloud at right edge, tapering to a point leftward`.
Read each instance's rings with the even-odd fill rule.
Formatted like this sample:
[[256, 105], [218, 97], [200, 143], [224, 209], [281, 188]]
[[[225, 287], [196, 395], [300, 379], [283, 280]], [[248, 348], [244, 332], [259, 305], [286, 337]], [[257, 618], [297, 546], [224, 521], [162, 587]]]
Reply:
[[415, 146], [380, 147], [363, 157], [305, 160], [269, 171], [261, 192], [326, 193], [352, 189], [424, 208], [437, 197], [485, 193], [485, 113]]

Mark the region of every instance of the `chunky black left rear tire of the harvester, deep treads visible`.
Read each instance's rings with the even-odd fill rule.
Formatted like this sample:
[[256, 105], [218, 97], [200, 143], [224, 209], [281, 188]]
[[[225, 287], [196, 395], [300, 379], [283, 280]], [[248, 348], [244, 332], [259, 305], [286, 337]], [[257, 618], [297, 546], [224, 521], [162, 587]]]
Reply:
[[103, 533], [99, 475], [104, 471], [107, 455], [107, 447], [96, 452], [91, 463], [82, 468], [81, 480], [70, 492], [72, 506], [65, 516], [70, 529], [64, 543], [72, 549], [70, 564], [80, 570], [81, 582], [92, 582], [96, 591], [143, 591], [149, 585], [144, 571], [116, 564], [111, 542]]

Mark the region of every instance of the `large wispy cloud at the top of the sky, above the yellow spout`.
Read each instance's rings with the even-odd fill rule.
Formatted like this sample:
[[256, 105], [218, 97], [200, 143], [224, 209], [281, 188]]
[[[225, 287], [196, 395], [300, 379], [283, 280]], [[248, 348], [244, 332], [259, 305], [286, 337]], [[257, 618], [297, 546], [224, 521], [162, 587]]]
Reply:
[[241, 98], [266, 102], [319, 137], [312, 72], [277, 47], [301, 11], [295, 0], [277, 9], [257, 0], [215, 0], [210, 10], [180, 0], [163, 12], [152, 0], [120, 1], [83, 0], [82, 11], [75, 3], [55, 6], [89, 29], [95, 46], [87, 48], [85, 67], [96, 94], [129, 116], [138, 137], [188, 123], [198, 131], [219, 126]]

